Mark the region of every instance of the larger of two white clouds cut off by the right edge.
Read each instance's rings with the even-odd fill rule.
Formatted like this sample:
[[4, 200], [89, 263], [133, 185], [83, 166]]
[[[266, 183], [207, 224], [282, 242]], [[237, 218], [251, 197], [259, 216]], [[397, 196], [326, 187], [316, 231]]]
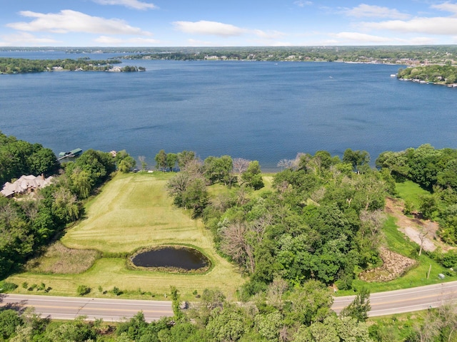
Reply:
[[361, 23], [362, 28], [375, 30], [390, 30], [402, 33], [428, 33], [457, 35], [457, 18], [434, 17], [434, 18], [415, 18], [408, 21], [391, 20], [378, 23]]

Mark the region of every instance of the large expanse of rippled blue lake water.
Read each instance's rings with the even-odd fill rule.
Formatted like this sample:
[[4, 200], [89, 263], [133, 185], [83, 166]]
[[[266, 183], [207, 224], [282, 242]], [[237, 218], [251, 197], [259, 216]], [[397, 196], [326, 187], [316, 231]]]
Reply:
[[[22, 58], [78, 58], [62, 52]], [[104, 59], [113, 54], [84, 55]], [[231, 155], [275, 170], [297, 152], [457, 148], [457, 89], [391, 78], [399, 66], [124, 61], [144, 73], [0, 75], [0, 130], [54, 152]]]

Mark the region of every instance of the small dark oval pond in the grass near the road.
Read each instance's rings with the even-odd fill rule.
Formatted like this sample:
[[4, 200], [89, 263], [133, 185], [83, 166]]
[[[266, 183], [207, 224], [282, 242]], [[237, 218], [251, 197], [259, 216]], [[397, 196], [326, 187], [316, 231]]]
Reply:
[[207, 269], [210, 261], [201, 252], [187, 247], [162, 247], [139, 252], [131, 258], [131, 262], [139, 267], [161, 269], [183, 269], [196, 271]]

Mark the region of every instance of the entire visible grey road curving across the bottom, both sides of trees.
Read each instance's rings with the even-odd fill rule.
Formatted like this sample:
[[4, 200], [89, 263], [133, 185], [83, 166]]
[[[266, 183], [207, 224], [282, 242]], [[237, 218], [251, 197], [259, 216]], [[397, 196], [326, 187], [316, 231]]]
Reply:
[[[353, 301], [354, 296], [335, 297], [332, 309], [337, 313]], [[421, 286], [412, 289], [371, 294], [369, 316], [384, 316], [403, 312], [436, 308], [457, 299], [457, 281]], [[121, 321], [143, 311], [146, 321], [173, 316], [170, 301], [140, 301], [126, 299], [100, 299], [86, 297], [56, 297], [0, 294], [0, 306], [24, 309], [34, 306], [36, 314], [56, 319], [103, 318], [104, 321]]]

